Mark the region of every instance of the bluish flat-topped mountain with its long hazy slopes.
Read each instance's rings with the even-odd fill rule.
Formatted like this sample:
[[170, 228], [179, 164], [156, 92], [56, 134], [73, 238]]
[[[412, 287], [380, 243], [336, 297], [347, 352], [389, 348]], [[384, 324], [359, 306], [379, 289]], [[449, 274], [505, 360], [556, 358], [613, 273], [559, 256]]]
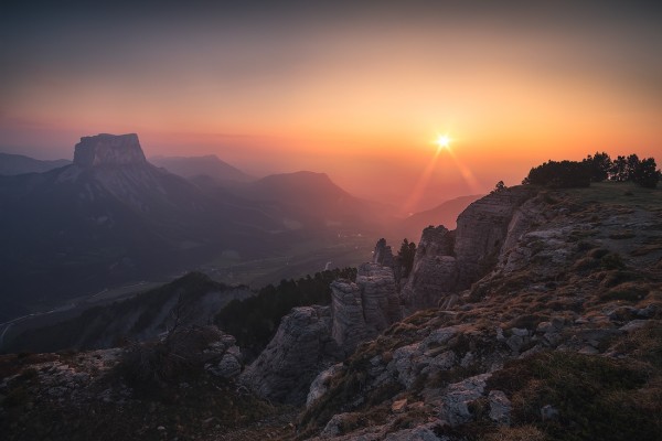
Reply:
[[70, 166], [0, 176], [0, 228], [1, 300], [33, 305], [291, 240], [254, 204], [148, 163], [136, 135], [85, 137]]

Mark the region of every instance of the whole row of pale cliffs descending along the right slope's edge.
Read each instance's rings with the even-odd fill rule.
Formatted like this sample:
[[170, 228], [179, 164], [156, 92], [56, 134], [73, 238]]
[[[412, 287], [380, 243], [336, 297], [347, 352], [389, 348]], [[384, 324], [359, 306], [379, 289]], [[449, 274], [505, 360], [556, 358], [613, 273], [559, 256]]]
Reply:
[[[373, 262], [359, 267], [355, 282], [341, 279], [331, 283], [331, 309], [324, 310], [325, 321], [299, 320], [312, 314], [312, 310], [306, 310], [306, 314], [296, 310], [288, 315], [267, 351], [247, 369], [246, 384], [269, 399], [302, 402], [305, 395], [298, 389], [307, 387], [319, 373], [322, 365], [319, 354], [323, 353], [320, 345], [325, 345], [323, 342], [329, 336], [340, 353], [349, 356], [361, 343], [375, 338], [406, 314], [437, 305], [445, 299], [457, 299], [457, 292], [468, 288], [495, 263], [504, 244], [516, 243], [511, 236], [521, 235], [531, 219], [515, 214], [531, 196], [531, 191], [523, 187], [493, 193], [460, 215], [458, 225], [461, 229], [458, 227], [458, 232], [444, 226], [426, 228], [412, 275], [402, 292], [398, 292], [399, 280], [396, 280], [396, 275], [401, 273], [398, 259], [381, 239]], [[511, 223], [516, 227], [509, 229]], [[456, 240], [458, 234], [468, 237], [460, 236]], [[302, 345], [299, 335], [309, 334], [317, 335], [314, 338], [324, 337], [318, 338], [317, 345], [314, 338]], [[307, 357], [301, 356], [300, 351]], [[293, 359], [282, 362], [284, 357]], [[340, 359], [342, 357], [337, 357]], [[328, 363], [331, 361], [327, 358]], [[310, 375], [301, 376], [301, 370]], [[293, 395], [292, 388], [298, 390]]]

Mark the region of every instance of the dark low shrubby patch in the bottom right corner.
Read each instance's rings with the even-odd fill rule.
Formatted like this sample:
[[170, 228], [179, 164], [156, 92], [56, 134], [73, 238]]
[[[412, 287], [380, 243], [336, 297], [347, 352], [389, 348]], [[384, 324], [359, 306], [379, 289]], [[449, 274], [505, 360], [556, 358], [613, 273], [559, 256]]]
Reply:
[[[557, 351], [508, 363], [488, 388], [511, 397], [514, 426], [551, 439], [652, 440], [662, 433], [662, 389], [651, 373], [640, 361]], [[544, 420], [547, 406], [556, 412]]]

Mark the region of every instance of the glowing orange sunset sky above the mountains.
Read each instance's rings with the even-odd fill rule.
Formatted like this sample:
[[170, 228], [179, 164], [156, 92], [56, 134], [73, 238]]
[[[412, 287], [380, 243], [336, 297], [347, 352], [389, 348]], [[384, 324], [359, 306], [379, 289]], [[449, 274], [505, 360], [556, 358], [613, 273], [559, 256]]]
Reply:
[[650, 1], [108, 3], [0, 7], [1, 151], [137, 132], [410, 207], [598, 149], [662, 162]]

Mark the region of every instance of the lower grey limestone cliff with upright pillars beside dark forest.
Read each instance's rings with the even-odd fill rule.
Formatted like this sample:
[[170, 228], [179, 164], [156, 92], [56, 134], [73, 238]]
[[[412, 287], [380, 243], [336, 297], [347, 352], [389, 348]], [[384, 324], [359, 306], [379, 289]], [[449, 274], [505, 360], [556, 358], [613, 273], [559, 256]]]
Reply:
[[242, 375], [256, 394], [301, 405], [312, 379], [401, 319], [393, 270], [359, 267], [356, 281], [331, 283], [331, 306], [295, 308], [267, 348]]

